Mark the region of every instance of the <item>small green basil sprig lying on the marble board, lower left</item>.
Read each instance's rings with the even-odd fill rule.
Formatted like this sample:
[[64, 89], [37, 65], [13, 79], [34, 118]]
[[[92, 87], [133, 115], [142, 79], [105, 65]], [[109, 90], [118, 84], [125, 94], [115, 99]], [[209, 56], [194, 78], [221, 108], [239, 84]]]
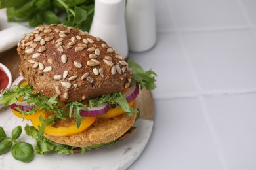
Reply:
[[33, 160], [34, 153], [31, 144], [24, 141], [16, 141], [22, 133], [22, 127], [17, 126], [12, 129], [12, 137], [7, 137], [5, 130], [0, 126], [0, 155], [11, 150], [12, 157], [22, 162]]

